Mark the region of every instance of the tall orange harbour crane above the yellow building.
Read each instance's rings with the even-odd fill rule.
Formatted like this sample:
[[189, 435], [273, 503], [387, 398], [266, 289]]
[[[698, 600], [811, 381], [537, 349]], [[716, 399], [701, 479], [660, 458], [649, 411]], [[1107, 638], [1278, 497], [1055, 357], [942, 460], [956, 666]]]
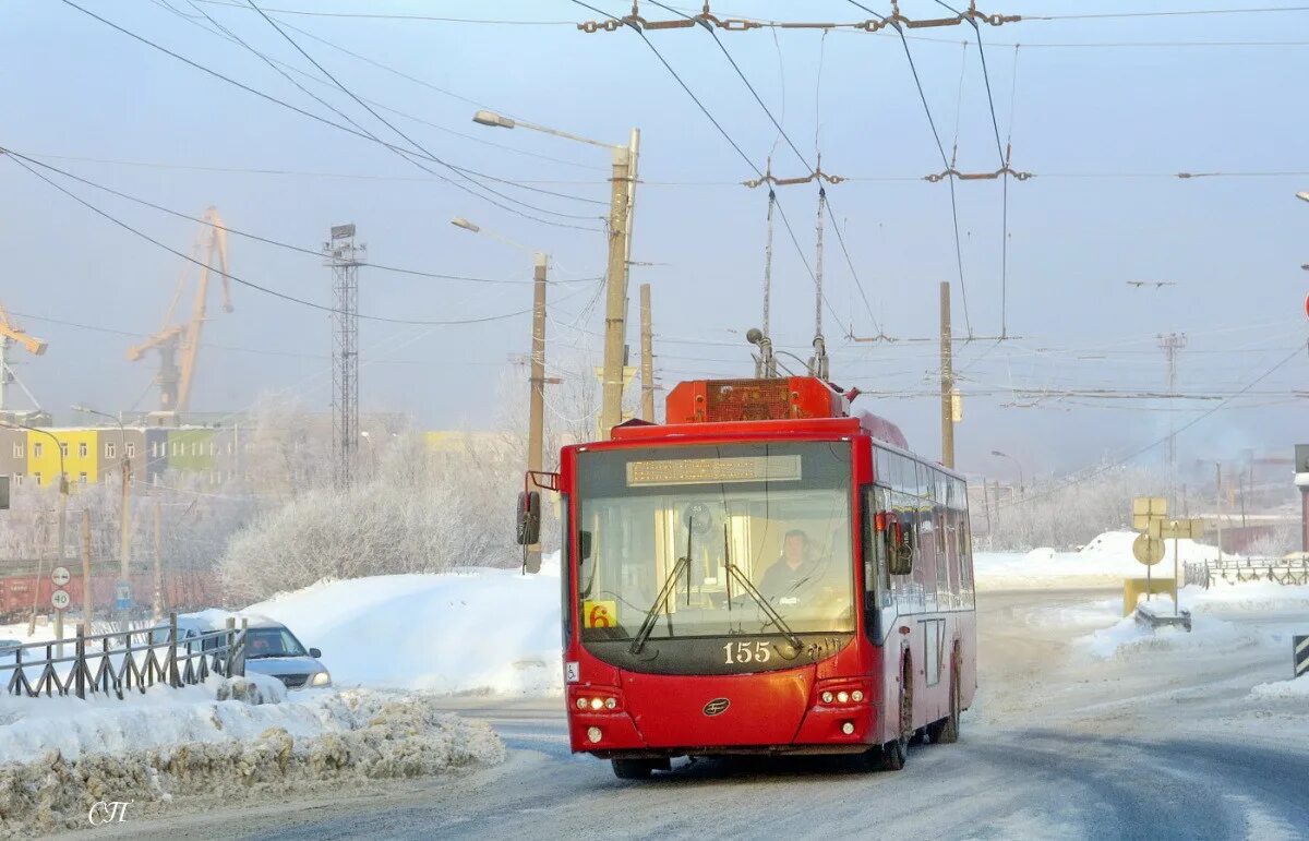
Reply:
[[[204, 259], [200, 259], [200, 254]], [[191, 245], [191, 258], [178, 275], [177, 290], [164, 314], [164, 326], [158, 333], [140, 345], [127, 348], [127, 359], [136, 362], [147, 351], [157, 350], [160, 372], [154, 381], [160, 386], [160, 410], [182, 413], [191, 405], [191, 384], [195, 381], [195, 363], [200, 355], [200, 331], [207, 318], [206, 308], [209, 293], [209, 275], [217, 274], [223, 280], [223, 312], [232, 312], [232, 286], [228, 282], [228, 231], [223, 227], [219, 211], [209, 207], [204, 211], [204, 227]], [[217, 263], [215, 265], [215, 261]], [[191, 266], [199, 263], [200, 278], [195, 290], [195, 303], [191, 305], [191, 320], [174, 324], [173, 313], [186, 291]], [[216, 270], [216, 271], [215, 271]], [[181, 365], [178, 364], [181, 356]]]

